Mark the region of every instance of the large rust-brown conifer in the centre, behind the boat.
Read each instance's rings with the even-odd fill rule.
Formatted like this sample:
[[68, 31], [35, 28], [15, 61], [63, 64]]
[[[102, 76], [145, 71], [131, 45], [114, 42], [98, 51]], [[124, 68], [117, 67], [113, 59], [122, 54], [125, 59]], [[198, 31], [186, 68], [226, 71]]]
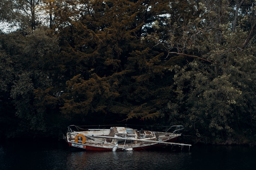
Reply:
[[[167, 10], [164, 4], [162, 9]], [[61, 53], [66, 58], [65, 74], [73, 76], [67, 82], [67, 93], [62, 95], [62, 112], [159, 117], [162, 113], [158, 110], [170, 97], [163, 97], [165, 87], [159, 86], [159, 81], [169, 67], [162, 65], [162, 52], [147, 48], [153, 42], [141, 41], [141, 35], [151, 31], [144, 28], [151, 24], [150, 18], [165, 11], [151, 7], [159, 5], [156, 1], [80, 1], [79, 5], [81, 8], [75, 8], [80, 11], [78, 19], [73, 16], [75, 11], [68, 13], [68, 18], [56, 16], [66, 21], [60, 26], [68, 23], [61, 32], [66, 46]]]

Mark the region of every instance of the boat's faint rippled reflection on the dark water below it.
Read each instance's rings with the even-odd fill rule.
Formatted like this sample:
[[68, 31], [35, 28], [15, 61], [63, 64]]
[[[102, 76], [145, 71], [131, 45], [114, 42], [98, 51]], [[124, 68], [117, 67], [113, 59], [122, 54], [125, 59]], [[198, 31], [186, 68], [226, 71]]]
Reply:
[[159, 151], [71, 152], [68, 169], [179, 169], [191, 162], [190, 153]]

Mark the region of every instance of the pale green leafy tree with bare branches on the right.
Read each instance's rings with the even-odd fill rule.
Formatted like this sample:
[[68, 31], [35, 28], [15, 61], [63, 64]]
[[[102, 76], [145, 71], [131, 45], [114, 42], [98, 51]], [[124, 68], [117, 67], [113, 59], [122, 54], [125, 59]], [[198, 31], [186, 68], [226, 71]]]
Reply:
[[[247, 102], [254, 100], [254, 95], [244, 95], [254, 94], [254, 85], [250, 82], [254, 77], [255, 52], [254, 44], [248, 44], [248, 40], [254, 42], [255, 17], [251, 15], [254, 9], [248, 1], [201, 1], [197, 4], [188, 1], [188, 4], [186, 14], [198, 14], [194, 20], [185, 20], [183, 18], [191, 17], [180, 13], [178, 20], [170, 18], [168, 22], [171, 32], [168, 38], [161, 38], [160, 31], [148, 36], [167, 51], [168, 57], [176, 54], [186, 57], [188, 62], [174, 68], [172, 87], [177, 97], [168, 104], [174, 113], [170, 113], [170, 121], [186, 120], [186, 126], [194, 131], [197, 141], [206, 142], [210, 137], [215, 142], [232, 142], [235, 132], [249, 126], [254, 131], [255, 126], [252, 109], [255, 106]], [[173, 3], [171, 7], [176, 5]], [[238, 15], [242, 6], [247, 6], [249, 12], [241, 9], [244, 13]], [[175, 44], [177, 42], [182, 44]], [[246, 50], [244, 44], [247, 44]], [[244, 82], [251, 88], [246, 88]]]

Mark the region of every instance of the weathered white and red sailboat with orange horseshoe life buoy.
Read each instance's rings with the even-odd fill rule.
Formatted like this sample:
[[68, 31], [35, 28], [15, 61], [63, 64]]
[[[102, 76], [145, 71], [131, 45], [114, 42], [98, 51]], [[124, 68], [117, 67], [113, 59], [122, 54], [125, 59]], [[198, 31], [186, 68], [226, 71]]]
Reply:
[[[173, 132], [168, 132], [175, 128]], [[172, 126], [166, 132], [137, 130], [113, 126], [109, 129], [87, 129], [86, 126], [70, 125], [65, 140], [69, 146], [93, 151], [144, 150], [167, 145], [191, 146], [175, 143], [183, 126]]]

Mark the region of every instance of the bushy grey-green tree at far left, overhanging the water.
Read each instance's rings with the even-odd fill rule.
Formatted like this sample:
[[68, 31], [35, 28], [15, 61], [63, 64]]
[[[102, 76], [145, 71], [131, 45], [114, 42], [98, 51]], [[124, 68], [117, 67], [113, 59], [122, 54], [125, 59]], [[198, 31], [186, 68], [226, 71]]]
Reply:
[[1, 110], [5, 110], [5, 119], [13, 119], [15, 114], [19, 121], [17, 134], [10, 134], [18, 136], [18, 131], [24, 129], [33, 132], [30, 135], [46, 132], [50, 120], [47, 115], [52, 112], [37, 105], [34, 90], [46, 90], [53, 85], [56, 72], [52, 71], [51, 58], [59, 50], [56, 38], [44, 29], [18, 30], [2, 34], [1, 49], [1, 101], [8, 102]]

